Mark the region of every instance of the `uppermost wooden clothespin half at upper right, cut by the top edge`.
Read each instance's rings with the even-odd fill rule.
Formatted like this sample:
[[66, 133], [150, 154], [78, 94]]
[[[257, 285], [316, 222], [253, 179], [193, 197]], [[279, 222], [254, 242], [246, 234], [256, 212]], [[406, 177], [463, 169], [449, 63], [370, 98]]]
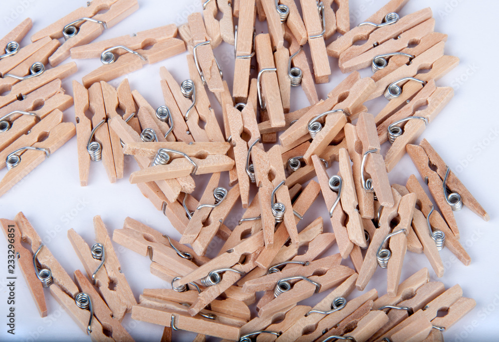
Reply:
[[[365, 21], [380, 23], [383, 21], [385, 15], [390, 12], [398, 12], [408, 0], [390, 0], [376, 13], [368, 17]], [[362, 25], [353, 27], [348, 32], [345, 32], [343, 36], [338, 37], [335, 41], [327, 46], [327, 54], [329, 56], [338, 58], [340, 54], [352, 46], [358, 40], [366, 40], [369, 34], [376, 30], [373, 25]]]

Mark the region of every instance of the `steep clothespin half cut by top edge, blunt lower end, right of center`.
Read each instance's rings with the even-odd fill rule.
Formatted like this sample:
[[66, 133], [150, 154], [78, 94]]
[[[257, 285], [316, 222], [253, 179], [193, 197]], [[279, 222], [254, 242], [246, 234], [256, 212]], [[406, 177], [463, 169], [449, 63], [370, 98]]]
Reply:
[[308, 44], [312, 56], [315, 83], [327, 83], [331, 68], [326, 52], [324, 34], [326, 22], [324, 15], [324, 4], [313, 0], [300, 0], [303, 12], [303, 22], [307, 28]]

